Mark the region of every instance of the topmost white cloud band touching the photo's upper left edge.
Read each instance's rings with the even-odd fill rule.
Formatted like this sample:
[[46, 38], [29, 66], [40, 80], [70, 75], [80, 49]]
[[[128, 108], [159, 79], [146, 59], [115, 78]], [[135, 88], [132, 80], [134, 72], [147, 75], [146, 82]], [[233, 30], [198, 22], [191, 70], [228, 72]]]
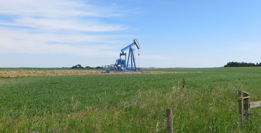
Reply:
[[1, 0], [0, 13], [19, 16], [41, 17], [75, 17], [97, 16], [109, 17], [119, 14], [113, 13], [113, 8], [85, 4], [81, 1], [70, 0]]

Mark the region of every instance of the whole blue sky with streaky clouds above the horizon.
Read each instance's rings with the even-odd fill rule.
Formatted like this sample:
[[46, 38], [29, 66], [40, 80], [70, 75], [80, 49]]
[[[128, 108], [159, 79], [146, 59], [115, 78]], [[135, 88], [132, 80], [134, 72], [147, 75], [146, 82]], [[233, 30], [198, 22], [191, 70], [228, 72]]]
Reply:
[[255, 0], [1, 0], [0, 67], [110, 65], [134, 39], [139, 67], [260, 63], [260, 6]]

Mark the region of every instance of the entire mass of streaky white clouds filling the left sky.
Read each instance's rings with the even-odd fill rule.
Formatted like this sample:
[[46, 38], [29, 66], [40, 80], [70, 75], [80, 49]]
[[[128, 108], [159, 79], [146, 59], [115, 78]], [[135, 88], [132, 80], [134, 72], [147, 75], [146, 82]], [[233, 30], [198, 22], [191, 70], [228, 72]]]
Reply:
[[103, 34], [127, 28], [103, 20], [122, 15], [115, 7], [70, 0], [2, 0], [0, 7], [0, 15], [5, 16], [0, 18], [0, 53], [103, 57], [118, 55], [110, 43], [122, 43], [115, 39], [129, 36]]

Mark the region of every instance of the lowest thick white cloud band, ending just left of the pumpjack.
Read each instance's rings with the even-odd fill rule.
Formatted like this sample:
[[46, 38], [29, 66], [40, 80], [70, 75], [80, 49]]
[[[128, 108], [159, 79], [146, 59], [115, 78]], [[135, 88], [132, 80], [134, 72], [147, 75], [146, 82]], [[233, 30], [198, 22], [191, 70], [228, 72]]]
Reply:
[[[107, 57], [117, 56], [119, 52], [113, 51], [111, 46], [86, 46], [70, 44], [45, 44], [34, 40], [14, 40], [0, 38], [0, 53], [26, 53], [26, 54], [69, 54], [74, 56]], [[8, 44], [8, 45], [5, 45]]]

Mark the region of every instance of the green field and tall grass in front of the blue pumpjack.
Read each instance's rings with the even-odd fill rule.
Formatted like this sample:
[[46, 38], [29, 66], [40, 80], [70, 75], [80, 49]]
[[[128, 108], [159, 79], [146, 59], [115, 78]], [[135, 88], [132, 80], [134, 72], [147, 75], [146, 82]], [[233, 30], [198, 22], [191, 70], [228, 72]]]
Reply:
[[261, 107], [239, 123], [236, 90], [261, 101], [261, 67], [250, 68], [0, 78], [0, 132], [166, 133], [167, 108], [174, 132], [261, 132]]

